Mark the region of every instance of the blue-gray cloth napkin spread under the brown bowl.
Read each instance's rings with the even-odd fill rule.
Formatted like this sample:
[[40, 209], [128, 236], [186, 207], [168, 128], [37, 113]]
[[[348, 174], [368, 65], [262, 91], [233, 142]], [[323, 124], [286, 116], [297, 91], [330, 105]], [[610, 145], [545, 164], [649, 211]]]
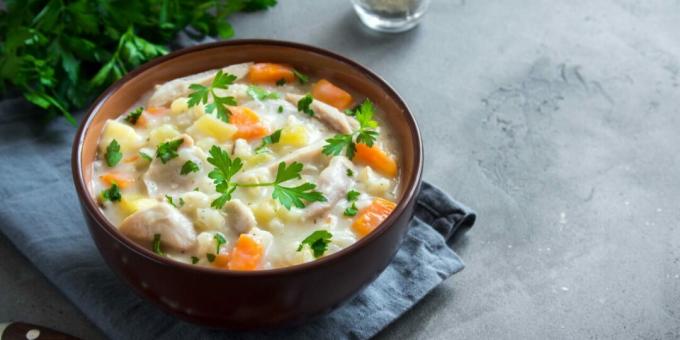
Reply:
[[23, 100], [0, 101], [0, 231], [111, 338], [364, 339], [463, 269], [446, 240], [472, 226], [474, 212], [424, 183], [416, 217], [396, 257], [340, 309], [297, 328], [266, 333], [225, 332], [179, 321], [140, 299], [105, 265], [71, 179], [75, 128], [61, 119], [46, 124], [40, 118]]

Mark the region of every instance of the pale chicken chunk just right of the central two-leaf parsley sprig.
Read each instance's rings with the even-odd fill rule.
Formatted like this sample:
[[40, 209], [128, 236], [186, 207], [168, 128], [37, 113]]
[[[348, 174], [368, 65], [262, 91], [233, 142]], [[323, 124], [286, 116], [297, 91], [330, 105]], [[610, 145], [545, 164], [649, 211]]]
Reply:
[[354, 166], [343, 156], [333, 157], [328, 166], [319, 174], [318, 190], [326, 196], [326, 202], [314, 202], [305, 208], [306, 218], [317, 218], [345, 197], [352, 185], [351, 177], [347, 176], [347, 169]]

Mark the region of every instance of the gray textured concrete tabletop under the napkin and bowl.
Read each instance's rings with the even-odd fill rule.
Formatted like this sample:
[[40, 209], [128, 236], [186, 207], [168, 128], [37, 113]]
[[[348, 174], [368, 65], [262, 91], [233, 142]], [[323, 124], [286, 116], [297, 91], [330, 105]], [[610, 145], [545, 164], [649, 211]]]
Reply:
[[[395, 36], [349, 0], [233, 23], [384, 76], [425, 178], [479, 213], [467, 268], [378, 338], [680, 338], [680, 2], [435, 0]], [[0, 319], [101, 336], [0, 239]]]

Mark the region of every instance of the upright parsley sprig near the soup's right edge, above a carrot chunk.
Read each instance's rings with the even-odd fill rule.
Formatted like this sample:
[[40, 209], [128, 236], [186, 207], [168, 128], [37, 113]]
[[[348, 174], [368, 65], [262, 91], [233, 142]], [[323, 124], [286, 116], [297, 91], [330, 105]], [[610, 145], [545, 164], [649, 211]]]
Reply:
[[323, 153], [329, 156], [337, 156], [345, 150], [347, 158], [354, 158], [356, 153], [356, 144], [366, 144], [373, 146], [376, 138], [378, 138], [378, 122], [373, 119], [373, 103], [367, 98], [357, 109], [355, 117], [359, 122], [359, 130], [352, 134], [337, 134], [329, 139], [326, 139], [326, 145], [323, 146]]

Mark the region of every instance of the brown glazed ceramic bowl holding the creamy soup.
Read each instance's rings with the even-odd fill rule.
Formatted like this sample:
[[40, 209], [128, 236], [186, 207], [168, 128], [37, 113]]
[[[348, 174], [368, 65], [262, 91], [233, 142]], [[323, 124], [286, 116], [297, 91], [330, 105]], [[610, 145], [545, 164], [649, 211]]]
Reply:
[[[102, 126], [155, 84], [246, 61], [287, 63], [368, 96], [387, 116], [401, 147], [401, 192], [394, 212], [346, 249], [292, 267], [232, 272], [157, 256], [118, 233], [90, 192], [92, 162]], [[190, 322], [229, 329], [289, 326], [327, 313], [371, 283], [396, 254], [420, 188], [420, 133], [404, 101], [380, 77], [335, 53], [271, 40], [200, 45], [171, 53], [130, 72], [92, 105], [76, 134], [73, 180], [83, 214], [102, 256], [139, 295]]]

